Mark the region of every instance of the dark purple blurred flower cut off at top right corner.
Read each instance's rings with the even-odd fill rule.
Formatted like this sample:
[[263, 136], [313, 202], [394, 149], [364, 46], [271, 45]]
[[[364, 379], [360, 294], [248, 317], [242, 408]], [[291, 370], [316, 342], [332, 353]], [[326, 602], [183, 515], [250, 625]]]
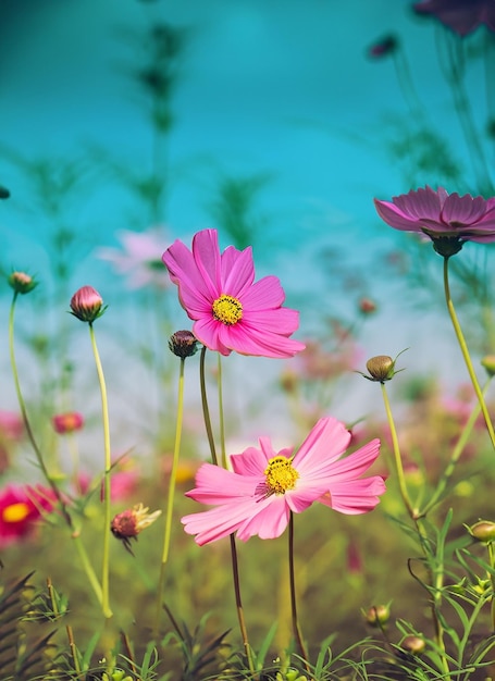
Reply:
[[432, 14], [459, 36], [467, 36], [481, 24], [495, 32], [493, 0], [423, 0], [413, 10], [417, 14]]

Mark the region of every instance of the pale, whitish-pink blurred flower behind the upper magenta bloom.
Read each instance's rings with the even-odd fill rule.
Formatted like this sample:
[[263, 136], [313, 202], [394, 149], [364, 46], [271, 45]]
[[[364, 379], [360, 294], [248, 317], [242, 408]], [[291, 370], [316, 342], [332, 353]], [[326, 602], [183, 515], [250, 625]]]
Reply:
[[119, 232], [117, 237], [123, 250], [117, 248], [99, 248], [97, 258], [111, 262], [117, 274], [128, 276], [129, 288], [170, 286], [169, 274], [161, 261], [161, 255], [166, 248], [163, 227], [150, 227], [146, 232]]

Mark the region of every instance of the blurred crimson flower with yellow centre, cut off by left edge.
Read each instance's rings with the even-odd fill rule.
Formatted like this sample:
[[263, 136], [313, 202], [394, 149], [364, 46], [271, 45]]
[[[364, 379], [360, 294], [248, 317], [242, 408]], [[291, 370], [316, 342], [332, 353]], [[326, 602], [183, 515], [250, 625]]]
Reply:
[[0, 547], [32, 534], [42, 511], [53, 507], [53, 494], [40, 485], [7, 485], [0, 491]]

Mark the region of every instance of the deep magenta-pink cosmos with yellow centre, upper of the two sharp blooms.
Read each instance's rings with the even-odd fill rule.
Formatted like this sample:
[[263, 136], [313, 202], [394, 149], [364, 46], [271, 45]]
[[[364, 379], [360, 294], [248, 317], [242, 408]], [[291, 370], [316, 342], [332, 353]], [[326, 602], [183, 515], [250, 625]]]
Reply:
[[195, 321], [193, 332], [210, 350], [230, 355], [293, 357], [305, 345], [289, 336], [299, 313], [283, 308], [284, 289], [276, 276], [255, 282], [251, 248], [219, 249], [216, 230], [203, 230], [189, 250], [176, 240], [163, 253], [181, 305]]

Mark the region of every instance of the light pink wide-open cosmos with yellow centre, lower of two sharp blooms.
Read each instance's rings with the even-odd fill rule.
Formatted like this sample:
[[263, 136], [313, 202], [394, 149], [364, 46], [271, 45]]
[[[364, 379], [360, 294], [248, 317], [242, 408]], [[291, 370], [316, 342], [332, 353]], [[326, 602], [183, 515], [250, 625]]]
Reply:
[[200, 546], [237, 531], [247, 541], [280, 536], [290, 512], [300, 513], [321, 502], [341, 513], [366, 513], [385, 492], [383, 478], [361, 479], [379, 456], [373, 439], [348, 457], [341, 458], [350, 441], [343, 423], [320, 419], [293, 456], [293, 448], [275, 451], [267, 437], [260, 448], [249, 447], [231, 457], [233, 471], [203, 463], [196, 474], [196, 488], [186, 496], [216, 508], [185, 516], [188, 534]]

